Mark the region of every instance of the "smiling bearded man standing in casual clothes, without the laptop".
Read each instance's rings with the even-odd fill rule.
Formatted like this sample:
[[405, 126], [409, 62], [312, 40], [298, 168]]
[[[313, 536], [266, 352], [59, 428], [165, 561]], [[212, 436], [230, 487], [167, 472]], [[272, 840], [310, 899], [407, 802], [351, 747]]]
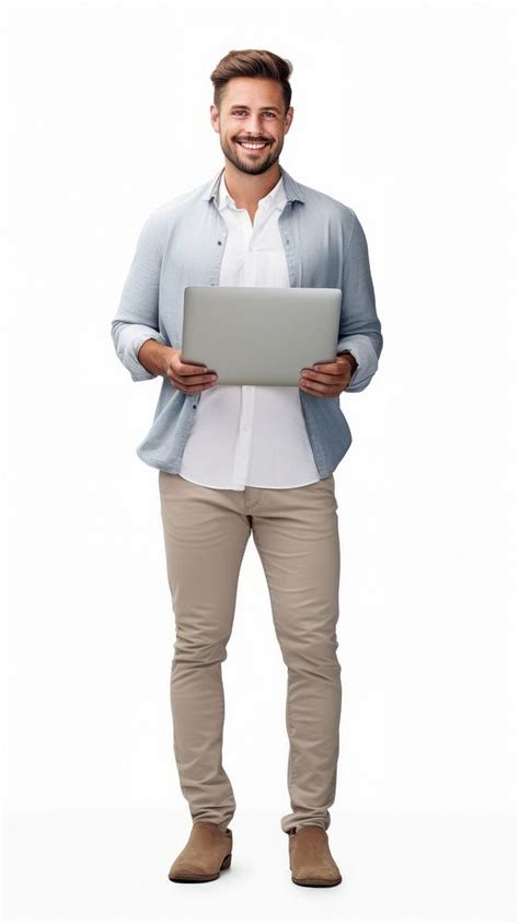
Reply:
[[[224, 166], [147, 219], [112, 334], [134, 381], [163, 378], [137, 448], [159, 470], [175, 614], [174, 753], [193, 821], [172, 881], [208, 881], [231, 862], [235, 811], [222, 765], [221, 663], [251, 532], [288, 669], [286, 721], [291, 879], [335, 886], [327, 829], [342, 703], [337, 659], [339, 540], [333, 472], [351, 434], [342, 392], [362, 391], [382, 350], [368, 249], [356, 213], [296, 183], [279, 163], [293, 107], [291, 63], [230, 51], [211, 74], [210, 120]], [[298, 386], [218, 385], [182, 361], [187, 285], [341, 288], [337, 356]]]

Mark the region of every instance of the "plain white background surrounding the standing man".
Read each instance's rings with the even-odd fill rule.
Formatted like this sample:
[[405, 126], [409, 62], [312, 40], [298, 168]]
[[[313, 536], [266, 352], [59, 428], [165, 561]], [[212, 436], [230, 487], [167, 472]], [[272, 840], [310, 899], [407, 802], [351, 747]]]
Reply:
[[[512, 920], [514, 4], [13, 2], [2, 22], [5, 916]], [[222, 668], [233, 866], [168, 880], [191, 817], [158, 472], [135, 453], [160, 380], [134, 383], [109, 335], [146, 217], [223, 164], [209, 74], [249, 47], [293, 65], [280, 162], [357, 212], [384, 336], [342, 396], [325, 890], [290, 881], [286, 668], [252, 536]]]

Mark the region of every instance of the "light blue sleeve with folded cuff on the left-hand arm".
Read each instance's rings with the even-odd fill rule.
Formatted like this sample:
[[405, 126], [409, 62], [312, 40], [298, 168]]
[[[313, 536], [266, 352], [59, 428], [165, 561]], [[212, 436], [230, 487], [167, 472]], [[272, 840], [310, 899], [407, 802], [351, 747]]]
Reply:
[[138, 359], [141, 346], [150, 338], [165, 345], [159, 332], [159, 281], [162, 257], [155, 238], [153, 213], [146, 220], [119, 308], [112, 321], [112, 339], [123, 366], [134, 382], [154, 379], [158, 371], [145, 368]]

